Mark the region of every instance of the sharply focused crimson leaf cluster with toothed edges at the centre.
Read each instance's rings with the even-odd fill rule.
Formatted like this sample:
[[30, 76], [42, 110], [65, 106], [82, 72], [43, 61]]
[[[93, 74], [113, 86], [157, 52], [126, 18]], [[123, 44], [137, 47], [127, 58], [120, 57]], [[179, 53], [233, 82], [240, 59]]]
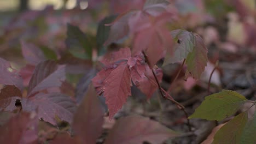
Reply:
[[[92, 79], [98, 95], [103, 93], [109, 109], [109, 118], [121, 109], [126, 99], [131, 95], [131, 80], [141, 89], [148, 98], [157, 89], [154, 76], [148, 64], [144, 61], [142, 53], [137, 53], [131, 57], [128, 47], [113, 52], [107, 59], [102, 61], [105, 67]], [[161, 81], [162, 71], [155, 70], [156, 75]], [[148, 88], [150, 90], [148, 91]]]

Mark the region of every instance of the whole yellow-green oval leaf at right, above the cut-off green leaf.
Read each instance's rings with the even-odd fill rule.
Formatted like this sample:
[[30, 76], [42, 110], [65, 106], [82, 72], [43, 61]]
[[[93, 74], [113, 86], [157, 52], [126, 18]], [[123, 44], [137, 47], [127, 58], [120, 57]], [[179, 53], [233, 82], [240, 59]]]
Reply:
[[222, 92], [205, 97], [202, 104], [189, 118], [221, 121], [233, 115], [246, 101], [243, 95], [235, 91], [222, 90]]

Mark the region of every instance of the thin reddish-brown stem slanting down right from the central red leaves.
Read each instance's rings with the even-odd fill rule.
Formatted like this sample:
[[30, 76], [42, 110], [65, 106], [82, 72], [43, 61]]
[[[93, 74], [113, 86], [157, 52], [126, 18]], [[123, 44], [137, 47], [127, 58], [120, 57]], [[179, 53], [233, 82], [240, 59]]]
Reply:
[[[144, 57], [145, 57], [145, 59], [146, 59], [148, 65], [150, 65], [146, 53], [145, 53], [144, 51], [143, 51], [142, 53], [143, 53], [143, 55], [144, 55]], [[188, 113], [187, 113], [187, 111], [185, 111], [185, 107], [184, 107], [182, 104], [180, 104], [178, 101], [174, 100], [174, 99], [171, 97], [171, 95], [169, 95], [166, 91], [164, 91], [164, 89], [162, 89], [162, 87], [160, 86], [158, 77], [156, 77], [156, 75], [155, 75], [154, 70], [153, 70], [153, 69], [151, 69], [151, 70], [152, 70], [152, 73], [153, 73], [153, 75], [154, 75], [156, 84], [158, 85], [158, 88], [159, 88], [159, 91], [160, 91], [161, 96], [162, 96], [163, 98], [165, 98], [165, 99], [170, 100], [172, 103], [176, 104], [176, 105], [178, 106], [178, 108], [184, 112], [185, 117], [187, 118], [187, 121], [188, 121], [189, 131], [191, 131], [191, 125], [190, 125], [190, 121], [189, 121], [189, 118], [188, 118]], [[164, 92], [165, 92], [165, 94], [164, 94]], [[167, 96], [168, 96], [168, 97], [167, 97]]]

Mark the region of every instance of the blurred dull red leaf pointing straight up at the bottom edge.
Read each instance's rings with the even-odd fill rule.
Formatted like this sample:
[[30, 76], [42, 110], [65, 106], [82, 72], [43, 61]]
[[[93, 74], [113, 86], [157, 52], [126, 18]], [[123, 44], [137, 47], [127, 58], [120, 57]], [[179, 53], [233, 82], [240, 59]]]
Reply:
[[96, 143], [102, 132], [103, 116], [100, 100], [94, 88], [90, 86], [73, 120], [75, 134], [83, 143]]

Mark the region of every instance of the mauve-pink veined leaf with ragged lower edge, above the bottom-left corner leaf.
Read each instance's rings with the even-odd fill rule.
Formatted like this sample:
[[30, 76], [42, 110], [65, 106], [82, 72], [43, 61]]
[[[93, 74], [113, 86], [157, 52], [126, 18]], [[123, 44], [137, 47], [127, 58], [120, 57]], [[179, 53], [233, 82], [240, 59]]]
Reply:
[[56, 124], [55, 116], [62, 121], [72, 122], [76, 109], [74, 101], [61, 93], [38, 93], [28, 99], [22, 99], [22, 110], [34, 111], [38, 109], [38, 117], [51, 124]]

